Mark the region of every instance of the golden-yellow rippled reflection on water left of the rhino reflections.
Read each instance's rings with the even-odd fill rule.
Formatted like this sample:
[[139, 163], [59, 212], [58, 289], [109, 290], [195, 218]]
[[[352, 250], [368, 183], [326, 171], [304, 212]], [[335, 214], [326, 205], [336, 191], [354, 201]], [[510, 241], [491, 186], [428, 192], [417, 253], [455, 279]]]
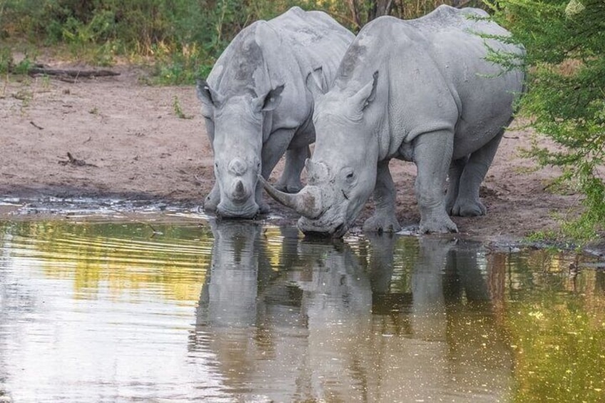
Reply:
[[39, 265], [49, 278], [72, 278], [76, 298], [104, 287], [114, 298], [145, 290], [196, 301], [213, 239], [199, 226], [31, 222], [19, 223], [9, 242], [15, 260]]

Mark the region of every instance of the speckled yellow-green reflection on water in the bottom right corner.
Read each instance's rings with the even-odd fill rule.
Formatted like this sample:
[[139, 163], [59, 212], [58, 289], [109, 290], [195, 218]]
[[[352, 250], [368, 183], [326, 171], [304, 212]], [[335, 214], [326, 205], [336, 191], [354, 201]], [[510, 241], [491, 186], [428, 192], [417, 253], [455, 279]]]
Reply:
[[509, 257], [515, 402], [605, 401], [605, 275], [570, 272], [572, 262], [545, 250]]

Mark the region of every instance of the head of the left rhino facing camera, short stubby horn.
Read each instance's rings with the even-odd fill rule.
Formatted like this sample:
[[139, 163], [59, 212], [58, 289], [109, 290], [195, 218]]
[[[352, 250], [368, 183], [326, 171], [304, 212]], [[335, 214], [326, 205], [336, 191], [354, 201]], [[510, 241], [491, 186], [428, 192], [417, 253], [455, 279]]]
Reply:
[[263, 133], [270, 122], [265, 117], [280, 103], [284, 86], [256, 96], [253, 91], [225, 96], [198, 81], [198, 98], [212, 139], [214, 174], [220, 190], [218, 215], [250, 218], [258, 213], [255, 200], [257, 177], [261, 172]]

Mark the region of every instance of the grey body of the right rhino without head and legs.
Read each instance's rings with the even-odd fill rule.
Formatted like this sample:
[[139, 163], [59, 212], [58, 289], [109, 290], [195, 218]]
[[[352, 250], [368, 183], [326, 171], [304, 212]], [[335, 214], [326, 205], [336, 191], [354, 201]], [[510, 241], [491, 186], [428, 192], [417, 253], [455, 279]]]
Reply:
[[524, 52], [494, 39], [508, 35], [479, 9], [439, 6], [415, 20], [382, 16], [357, 35], [334, 86], [346, 91], [379, 72], [377, 97], [387, 106], [376, 106], [375, 113], [387, 111], [389, 128], [382, 133], [381, 144], [388, 148], [381, 157], [397, 155], [406, 148], [402, 143], [409, 145], [422, 133], [451, 130], [454, 158], [460, 158], [507, 126], [514, 94], [522, 92], [522, 71], [505, 71], [486, 59], [490, 47]]

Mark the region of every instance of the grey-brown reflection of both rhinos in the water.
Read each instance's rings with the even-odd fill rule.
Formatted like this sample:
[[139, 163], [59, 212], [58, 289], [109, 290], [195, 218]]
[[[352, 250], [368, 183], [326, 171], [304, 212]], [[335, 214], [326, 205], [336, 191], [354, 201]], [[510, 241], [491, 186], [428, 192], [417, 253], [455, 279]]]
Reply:
[[[283, 252], [278, 270], [260, 230], [236, 228], [216, 228], [192, 346], [215, 354], [225, 393], [275, 402], [505, 398], [511, 357], [484, 310], [479, 245], [421, 238], [418, 252], [404, 250], [415, 255], [405, 272], [394, 237], [370, 238], [365, 253], [286, 237], [297, 255], [286, 267]], [[395, 290], [398, 277], [406, 290]]]

